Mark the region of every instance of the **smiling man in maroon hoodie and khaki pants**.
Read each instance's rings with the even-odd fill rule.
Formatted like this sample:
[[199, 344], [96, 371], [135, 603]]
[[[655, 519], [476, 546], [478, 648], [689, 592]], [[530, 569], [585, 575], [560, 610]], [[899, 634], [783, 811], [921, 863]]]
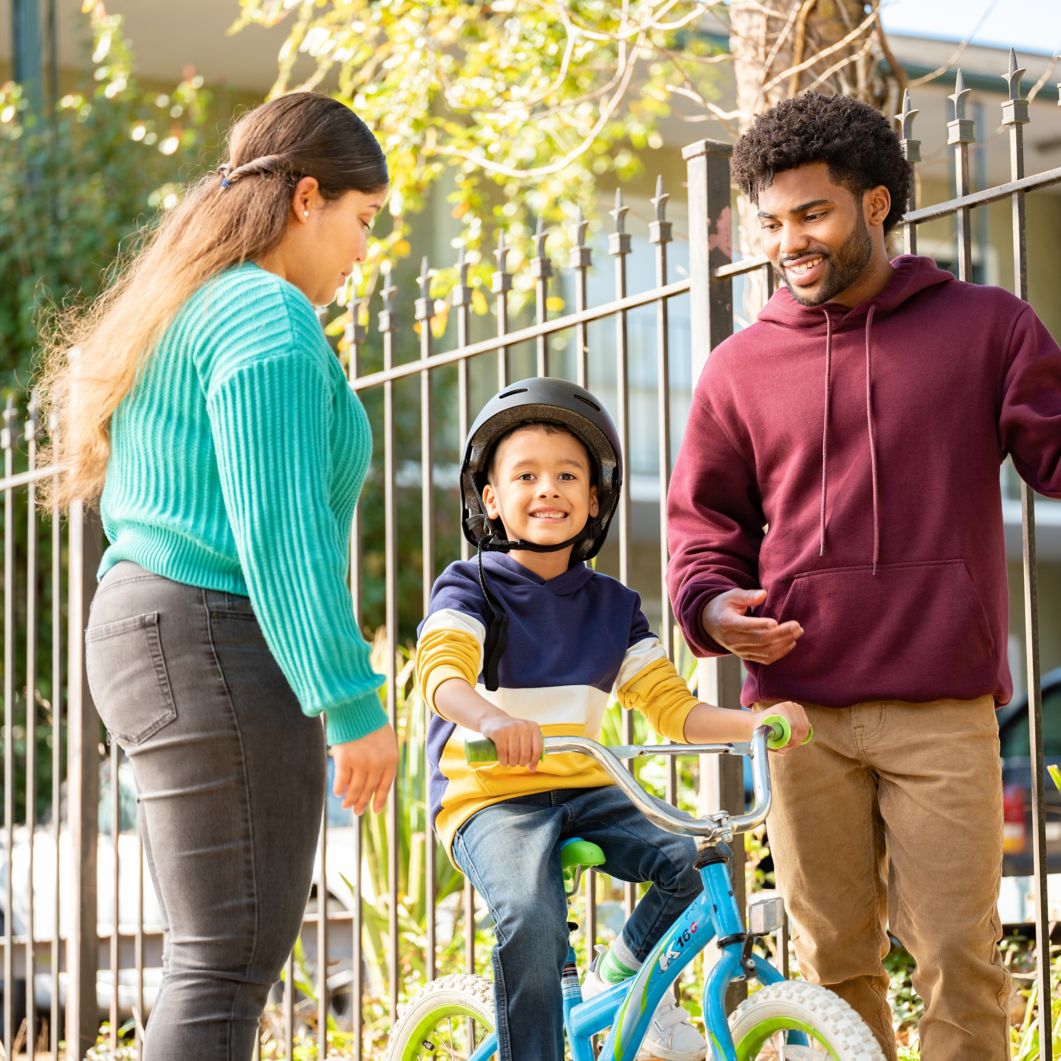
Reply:
[[843, 97], [733, 153], [783, 286], [708, 359], [668, 495], [669, 591], [742, 699], [815, 730], [773, 766], [770, 843], [803, 973], [895, 1057], [886, 925], [917, 961], [925, 1061], [1009, 1057], [998, 955], [1011, 695], [999, 464], [1061, 497], [1061, 351], [1027, 303], [889, 261], [908, 167]]

